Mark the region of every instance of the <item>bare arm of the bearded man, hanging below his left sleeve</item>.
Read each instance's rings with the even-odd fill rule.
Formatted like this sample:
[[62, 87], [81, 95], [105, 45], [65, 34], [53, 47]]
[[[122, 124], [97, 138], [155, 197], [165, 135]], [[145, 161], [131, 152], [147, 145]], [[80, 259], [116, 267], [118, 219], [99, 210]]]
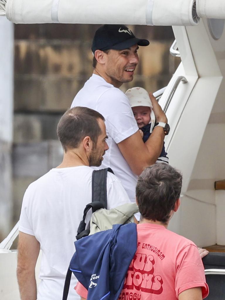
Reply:
[[39, 251], [40, 244], [35, 236], [20, 231], [16, 274], [21, 300], [37, 299], [35, 266]]

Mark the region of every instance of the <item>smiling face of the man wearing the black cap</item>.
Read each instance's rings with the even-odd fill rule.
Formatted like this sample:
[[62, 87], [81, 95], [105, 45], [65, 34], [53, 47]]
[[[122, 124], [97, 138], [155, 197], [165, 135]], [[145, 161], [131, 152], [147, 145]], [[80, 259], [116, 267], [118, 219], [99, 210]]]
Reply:
[[119, 87], [124, 82], [133, 80], [134, 70], [138, 64], [138, 45], [128, 49], [113, 50], [105, 53], [105, 73], [110, 77], [112, 84]]

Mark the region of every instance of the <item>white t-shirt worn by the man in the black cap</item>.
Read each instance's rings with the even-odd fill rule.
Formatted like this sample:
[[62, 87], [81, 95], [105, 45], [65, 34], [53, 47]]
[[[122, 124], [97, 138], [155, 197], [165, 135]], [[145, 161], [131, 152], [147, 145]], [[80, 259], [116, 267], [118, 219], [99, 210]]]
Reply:
[[138, 131], [127, 96], [101, 76], [93, 74], [74, 98], [71, 107], [74, 106], [97, 110], [106, 119], [109, 150], [104, 155], [99, 169], [110, 167], [122, 182], [130, 200], [134, 202], [137, 176], [132, 172], [117, 146]]

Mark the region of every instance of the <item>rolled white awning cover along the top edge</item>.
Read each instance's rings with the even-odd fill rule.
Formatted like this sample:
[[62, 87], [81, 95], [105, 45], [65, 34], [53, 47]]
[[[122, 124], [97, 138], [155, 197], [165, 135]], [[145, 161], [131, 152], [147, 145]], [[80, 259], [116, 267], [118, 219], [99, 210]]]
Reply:
[[194, 26], [199, 17], [225, 18], [225, 0], [0, 0], [14, 23]]

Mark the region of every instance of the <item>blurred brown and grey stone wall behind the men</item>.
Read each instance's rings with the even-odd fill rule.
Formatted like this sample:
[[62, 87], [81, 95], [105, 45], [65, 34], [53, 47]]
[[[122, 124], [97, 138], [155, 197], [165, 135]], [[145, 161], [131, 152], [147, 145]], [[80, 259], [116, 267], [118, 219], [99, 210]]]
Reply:
[[[59, 118], [92, 73], [91, 41], [99, 25], [14, 25], [13, 217], [19, 219], [26, 187], [56, 167], [62, 158], [57, 141]], [[140, 62], [126, 91], [141, 86], [156, 91], [166, 86], [180, 63], [170, 55], [171, 27], [129, 26], [150, 40], [138, 50]]]

